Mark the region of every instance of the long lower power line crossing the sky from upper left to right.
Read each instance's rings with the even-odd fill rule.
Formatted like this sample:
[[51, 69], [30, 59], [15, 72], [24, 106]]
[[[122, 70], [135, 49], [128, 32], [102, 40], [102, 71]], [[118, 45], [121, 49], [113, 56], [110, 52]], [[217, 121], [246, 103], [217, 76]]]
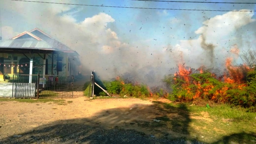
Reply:
[[255, 10], [197, 10], [197, 9], [168, 9], [168, 8], [146, 8], [146, 7], [126, 7], [126, 6], [107, 6], [107, 5], [91, 5], [91, 4], [69, 4], [69, 3], [54, 3], [54, 2], [40, 2], [40, 1], [28, 1], [28, 0], [11, 0], [20, 2], [34, 2], [34, 3], [46, 3], [46, 4], [67, 4], [67, 5], [82, 5], [82, 6], [99, 6], [99, 7], [115, 7], [115, 8], [132, 8], [132, 9], [153, 9], [153, 10], [182, 10], [182, 11], [215, 11], [215, 12], [256, 12]]

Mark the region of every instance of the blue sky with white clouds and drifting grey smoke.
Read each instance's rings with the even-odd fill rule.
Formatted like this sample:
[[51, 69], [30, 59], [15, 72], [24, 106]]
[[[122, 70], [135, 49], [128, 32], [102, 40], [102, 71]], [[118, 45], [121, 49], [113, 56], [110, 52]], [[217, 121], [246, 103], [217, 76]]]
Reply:
[[[255, 4], [132, 0], [54, 2], [163, 9], [256, 9]], [[96, 70], [104, 78], [126, 74], [144, 83], [158, 83], [182, 62], [192, 68], [204, 65], [223, 69], [227, 57], [240, 61], [236, 54], [230, 53], [231, 49], [255, 49], [256, 44], [255, 12], [153, 10], [10, 0], [0, 1], [0, 9], [3, 40], [25, 30], [40, 28], [79, 52], [86, 71]], [[210, 44], [212, 51], [207, 47]]]

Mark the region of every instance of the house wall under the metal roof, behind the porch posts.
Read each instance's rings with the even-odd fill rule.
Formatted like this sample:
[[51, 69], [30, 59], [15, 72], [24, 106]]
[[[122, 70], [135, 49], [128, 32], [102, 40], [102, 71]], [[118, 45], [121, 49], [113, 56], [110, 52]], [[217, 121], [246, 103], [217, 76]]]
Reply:
[[[43, 54], [40, 55], [43, 56]], [[26, 56], [29, 58], [30, 55], [27, 54]], [[0, 81], [4, 81], [3, 73], [9, 75], [10, 79], [12, 79], [13, 74], [28, 75], [30, 60], [26, 56], [19, 53], [0, 53]], [[43, 75], [44, 60], [41, 56], [36, 53], [33, 55], [32, 74], [37, 75], [39, 73]], [[52, 54], [46, 54], [46, 61], [47, 68], [45, 74], [52, 75]], [[59, 72], [57, 72], [58, 69]], [[77, 75], [78, 72], [79, 65], [77, 65], [76, 61], [69, 53], [59, 52], [59, 54], [54, 54], [53, 75]]]

